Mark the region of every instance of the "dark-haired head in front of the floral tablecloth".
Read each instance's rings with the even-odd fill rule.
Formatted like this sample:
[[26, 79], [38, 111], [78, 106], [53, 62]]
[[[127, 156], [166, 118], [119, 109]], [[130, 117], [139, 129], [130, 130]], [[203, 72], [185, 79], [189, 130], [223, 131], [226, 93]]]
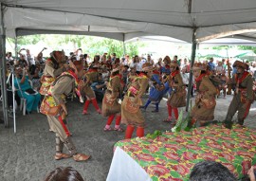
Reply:
[[205, 160], [194, 165], [190, 181], [236, 181], [229, 169], [221, 163]]

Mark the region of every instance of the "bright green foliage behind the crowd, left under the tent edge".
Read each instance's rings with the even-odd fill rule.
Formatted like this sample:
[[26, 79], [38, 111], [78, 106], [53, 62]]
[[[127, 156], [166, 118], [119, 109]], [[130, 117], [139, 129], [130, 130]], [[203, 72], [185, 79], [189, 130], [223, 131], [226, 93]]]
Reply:
[[[14, 44], [14, 39], [8, 39], [9, 44]], [[82, 53], [88, 53], [91, 57], [96, 54], [116, 53], [117, 57], [122, 57], [124, 54], [123, 43], [113, 39], [83, 36], [83, 35], [29, 35], [20, 36], [17, 39], [18, 49], [25, 45], [36, 45], [42, 43], [50, 49], [61, 50], [64, 49], [66, 54], [82, 48]], [[130, 56], [138, 54], [138, 46], [144, 46], [142, 43], [127, 43], [125, 44], [125, 54]], [[14, 47], [14, 45], [13, 45]], [[39, 51], [41, 50], [41, 47]], [[9, 50], [11, 51], [11, 50]]]

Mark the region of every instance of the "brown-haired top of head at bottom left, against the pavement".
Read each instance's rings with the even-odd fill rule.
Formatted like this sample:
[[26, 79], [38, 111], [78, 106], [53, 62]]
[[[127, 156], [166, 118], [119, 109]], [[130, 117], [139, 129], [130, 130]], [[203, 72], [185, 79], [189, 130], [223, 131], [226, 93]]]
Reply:
[[84, 181], [79, 172], [72, 167], [58, 167], [50, 172], [45, 181]]

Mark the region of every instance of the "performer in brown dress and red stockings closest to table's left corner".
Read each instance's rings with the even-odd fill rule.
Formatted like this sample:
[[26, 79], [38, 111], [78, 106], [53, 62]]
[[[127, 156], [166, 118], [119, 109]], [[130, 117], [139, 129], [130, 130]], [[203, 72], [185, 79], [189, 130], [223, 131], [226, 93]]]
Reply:
[[145, 119], [139, 106], [142, 105], [141, 97], [148, 87], [151, 76], [152, 66], [149, 63], [144, 63], [142, 71], [128, 87], [121, 103], [121, 121], [127, 125], [125, 138], [132, 137], [135, 127], [137, 127], [137, 136], [144, 136]]

